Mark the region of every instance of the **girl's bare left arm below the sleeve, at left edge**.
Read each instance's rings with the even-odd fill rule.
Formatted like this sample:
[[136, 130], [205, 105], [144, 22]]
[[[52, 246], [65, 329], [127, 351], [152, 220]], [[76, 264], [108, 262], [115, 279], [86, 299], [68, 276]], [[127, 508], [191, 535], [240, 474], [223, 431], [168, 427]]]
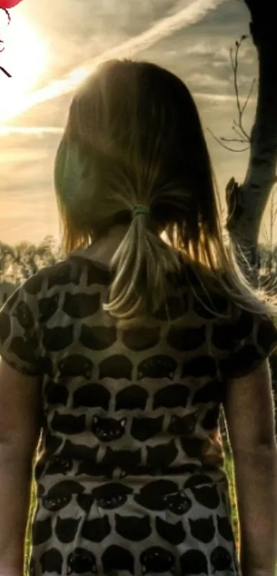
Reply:
[[0, 362], [0, 574], [23, 575], [32, 459], [40, 435], [36, 377]]

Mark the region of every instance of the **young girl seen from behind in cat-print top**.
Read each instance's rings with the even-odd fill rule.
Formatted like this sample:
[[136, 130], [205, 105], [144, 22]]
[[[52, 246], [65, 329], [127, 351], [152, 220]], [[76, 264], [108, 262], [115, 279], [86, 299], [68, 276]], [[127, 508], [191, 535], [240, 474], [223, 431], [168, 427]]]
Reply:
[[[55, 168], [65, 261], [0, 313], [0, 573], [274, 576], [271, 311], [223, 242], [186, 86], [111, 61]], [[219, 411], [236, 472], [240, 562]]]

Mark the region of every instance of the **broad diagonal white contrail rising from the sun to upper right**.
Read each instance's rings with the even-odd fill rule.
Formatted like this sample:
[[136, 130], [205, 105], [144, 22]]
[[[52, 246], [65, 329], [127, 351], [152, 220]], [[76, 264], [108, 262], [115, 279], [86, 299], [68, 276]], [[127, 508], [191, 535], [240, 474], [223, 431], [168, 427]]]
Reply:
[[105, 50], [99, 56], [91, 58], [85, 63], [85, 65], [73, 69], [60, 80], [54, 80], [44, 88], [29, 93], [25, 97], [23, 96], [21, 102], [15, 102], [14, 109], [9, 113], [4, 112], [1, 117], [0, 111], [0, 121], [8, 122], [8, 120], [14, 118], [14, 116], [36, 106], [36, 104], [41, 104], [42, 102], [52, 100], [53, 98], [71, 92], [78, 87], [80, 82], [85, 80], [85, 78], [87, 78], [87, 76], [89, 76], [89, 74], [91, 74], [100, 63], [111, 58], [134, 56], [140, 50], [153, 46], [159, 40], [166, 38], [166, 36], [170, 36], [170, 34], [180, 30], [180, 28], [195, 24], [197, 21], [201, 20], [209, 10], [217, 8], [222, 1], [223, 0], [193, 1], [190, 5], [186, 6], [186, 8], [182, 8], [182, 10], [178, 10], [178, 12], [172, 16], [166, 16], [166, 18], [158, 21], [151, 28], [142, 32], [142, 34], [138, 34], [120, 45]]

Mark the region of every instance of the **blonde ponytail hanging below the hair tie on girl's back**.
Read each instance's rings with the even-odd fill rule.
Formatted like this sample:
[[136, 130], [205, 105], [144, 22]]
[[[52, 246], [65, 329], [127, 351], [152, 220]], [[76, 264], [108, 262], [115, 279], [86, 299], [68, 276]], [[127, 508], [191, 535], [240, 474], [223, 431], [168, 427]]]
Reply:
[[179, 272], [177, 251], [159, 238], [140, 212], [131, 220], [118, 250], [111, 260], [113, 282], [109, 303], [103, 308], [116, 318], [121, 328], [148, 313], [155, 313], [166, 298], [166, 275]]

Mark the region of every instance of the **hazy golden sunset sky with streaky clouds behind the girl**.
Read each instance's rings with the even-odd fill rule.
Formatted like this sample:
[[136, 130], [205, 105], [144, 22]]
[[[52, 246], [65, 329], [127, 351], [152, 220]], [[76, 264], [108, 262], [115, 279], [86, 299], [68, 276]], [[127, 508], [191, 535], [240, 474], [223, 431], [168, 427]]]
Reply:
[[[0, 71], [0, 241], [59, 239], [56, 148], [74, 89], [111, 57], [151, 60], [180, 76], [197, 103], [222, 199], [230, 177], [243, 180], [248, 152], [227, 151], [210, 133], [233, 135], [230, 48], [248, 33], [243, 0], [23, 0], [10, 15], [6, 27], [0, 14], [0, 65], [12, 75]], [[239, 62], [242, 99], [256, 72], [249, 39]], [[255, 106], [254, 91], [247, 131]], [[269, 210], [263, 230], [268, 227]]]

